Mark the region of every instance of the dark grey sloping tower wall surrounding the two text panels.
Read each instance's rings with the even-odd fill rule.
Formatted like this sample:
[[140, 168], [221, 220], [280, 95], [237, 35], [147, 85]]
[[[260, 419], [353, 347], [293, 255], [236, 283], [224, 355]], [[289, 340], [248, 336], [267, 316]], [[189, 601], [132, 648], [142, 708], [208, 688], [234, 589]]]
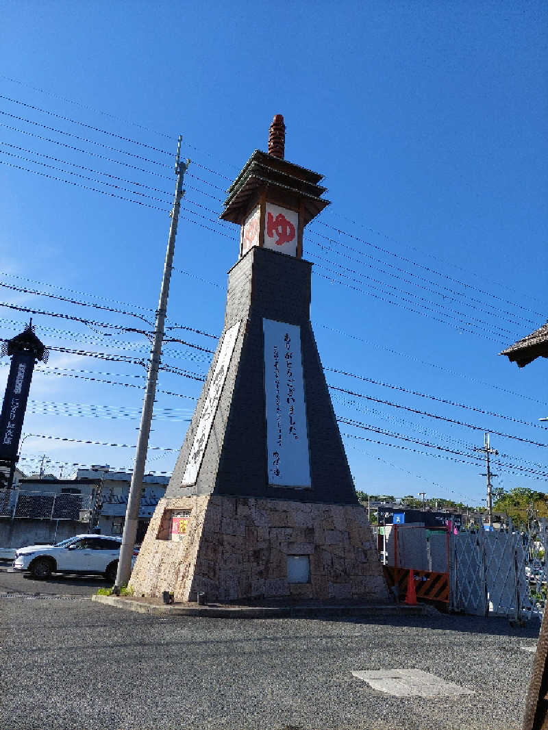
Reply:
[[[346, 453], [310, 321], [308, 261], [253, 247], [229, 272], [223, 335], [241, 321], [194, 485], [183, 474], [223, 337], [167, 488], [166, 497], [217, 494], [357, 504]], [[311, 488], [273, 487], [267, 475], [263, 318], [300, 327]]]

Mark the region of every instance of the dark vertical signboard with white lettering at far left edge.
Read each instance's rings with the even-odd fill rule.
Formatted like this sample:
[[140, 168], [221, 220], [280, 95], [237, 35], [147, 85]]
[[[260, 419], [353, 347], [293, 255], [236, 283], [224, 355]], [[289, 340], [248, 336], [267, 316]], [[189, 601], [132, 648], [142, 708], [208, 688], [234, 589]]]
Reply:
[[26, 401], [34, 370], [34, 353], [14, 353], [0, 415], [0, 458], [17, 456]]

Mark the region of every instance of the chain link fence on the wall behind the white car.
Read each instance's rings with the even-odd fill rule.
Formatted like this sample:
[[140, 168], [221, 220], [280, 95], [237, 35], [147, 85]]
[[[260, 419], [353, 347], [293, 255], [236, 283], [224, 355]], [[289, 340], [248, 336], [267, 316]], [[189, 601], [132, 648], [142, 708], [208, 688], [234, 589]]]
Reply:
[[79, 520], [91, 507], [91, 495], [0, 489], [0, 519]]

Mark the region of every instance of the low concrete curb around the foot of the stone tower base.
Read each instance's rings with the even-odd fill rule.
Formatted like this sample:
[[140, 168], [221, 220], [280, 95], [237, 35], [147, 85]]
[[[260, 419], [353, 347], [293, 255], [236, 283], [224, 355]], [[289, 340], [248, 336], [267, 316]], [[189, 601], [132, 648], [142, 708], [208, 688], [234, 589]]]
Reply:
[[430, 607], [424, 604], [406, 606], [402, 604], [360, 605], [360, 606], [182, 606], [178, 604], [149, 604], [119, 596], [91, 596], [97, 603], [115, 608], [146, 613], [153, 616], [201, 616], [202, 618], [331, 618], [344, 616], [427, 615]]

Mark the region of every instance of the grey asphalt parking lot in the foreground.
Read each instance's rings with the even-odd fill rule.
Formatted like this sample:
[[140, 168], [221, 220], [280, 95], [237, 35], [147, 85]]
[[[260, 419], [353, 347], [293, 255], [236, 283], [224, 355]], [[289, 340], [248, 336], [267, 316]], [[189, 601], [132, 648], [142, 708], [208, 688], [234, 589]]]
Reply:
[[[521, 726], [538, 623], [156, 618], [88, 600], [104, 585], [0, 572], [1, 729]], [[377, 669], [419, 669], [474, 694], [393, 696], [352, 675]]]

